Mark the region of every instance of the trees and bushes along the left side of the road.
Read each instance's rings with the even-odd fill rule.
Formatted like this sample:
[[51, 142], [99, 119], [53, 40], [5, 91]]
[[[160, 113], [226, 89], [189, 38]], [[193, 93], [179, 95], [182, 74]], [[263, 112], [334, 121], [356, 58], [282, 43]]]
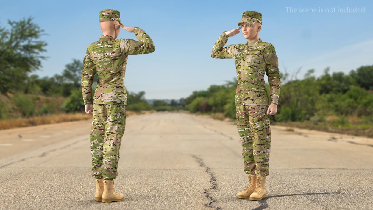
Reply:
[[[39, 40], [44, 30], [32, 18], [8, 20], [9, 29], [0, 27], [0, 119], [31, 117], [64, 112], [84, 112], [81, 59], [73, 59], [61, 74], [39, 78], [31, 74], [41, 68], [47, 59], [47, 43]], [[93, 94], [97, 86], [94, 76]], [[145, 92], [127, 93], [127, 110], [178, 110], [176, 101], [167, 104], [155, 100], [153, 105], [145, 100]]]

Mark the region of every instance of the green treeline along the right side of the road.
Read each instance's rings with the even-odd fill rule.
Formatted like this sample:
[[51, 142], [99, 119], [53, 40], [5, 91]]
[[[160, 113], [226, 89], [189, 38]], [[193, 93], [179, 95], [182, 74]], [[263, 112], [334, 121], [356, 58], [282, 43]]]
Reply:
[[[329, 73], [329, 68], [319, 78], [308, 70], [303, 79], [289, 78], [281, 73], [278, 113], [271, 116], [275, 121], [324, 121], [328, 116], [363, 117], [373, 122], [373, 65], [361, 66], [343, 72]], [[196, 113], [223, 113], [235, 119], [235, 90], [237, 81], [224, 85], [211, 85], [207, 90], [194, 91], [185, 98], [184, 107]], [[269, 95], [269, 85], [266, 84]], [[270, 97], [269, 97], [270, 99]]]

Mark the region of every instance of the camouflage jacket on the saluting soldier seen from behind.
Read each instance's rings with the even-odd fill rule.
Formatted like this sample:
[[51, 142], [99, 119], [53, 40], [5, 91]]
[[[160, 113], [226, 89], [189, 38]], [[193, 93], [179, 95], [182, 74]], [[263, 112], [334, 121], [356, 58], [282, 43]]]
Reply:
[[151, 38], [139, 27], [134, 27], [136, 38], [117, 39], [101, 35], [100, 40], [90, 44], [83, 60], [82, 94], [85, 104], [91, 103], [93, 76], [98, 82], [93, 96], [94, 104], [127, 104], [124, 85], [128, 55], [152, 53], [155, 46]]

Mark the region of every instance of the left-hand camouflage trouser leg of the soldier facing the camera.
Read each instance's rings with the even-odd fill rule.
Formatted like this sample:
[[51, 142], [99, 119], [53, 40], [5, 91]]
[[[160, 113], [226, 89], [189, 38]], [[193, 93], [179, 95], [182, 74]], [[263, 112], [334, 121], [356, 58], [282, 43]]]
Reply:
[[251, 138], [249, 115], [244, 105], [236, 106], [237, 130], [242, 144], [242, 157], [244, 158], [244, 171], [255, 174], [253, 155], [253, 139]]

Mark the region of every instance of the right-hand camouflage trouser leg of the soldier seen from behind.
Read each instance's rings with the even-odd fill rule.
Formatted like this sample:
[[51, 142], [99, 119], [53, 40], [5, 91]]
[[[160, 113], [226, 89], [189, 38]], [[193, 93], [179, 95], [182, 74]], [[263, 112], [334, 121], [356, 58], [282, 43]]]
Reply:
[[103, 177], [115, 179], [118, 175], [119, 149], [125, 131], [126, 106], [119, 104], [105, 104], [107, 120], [105, 125], [105, 139], [103, 151]]

